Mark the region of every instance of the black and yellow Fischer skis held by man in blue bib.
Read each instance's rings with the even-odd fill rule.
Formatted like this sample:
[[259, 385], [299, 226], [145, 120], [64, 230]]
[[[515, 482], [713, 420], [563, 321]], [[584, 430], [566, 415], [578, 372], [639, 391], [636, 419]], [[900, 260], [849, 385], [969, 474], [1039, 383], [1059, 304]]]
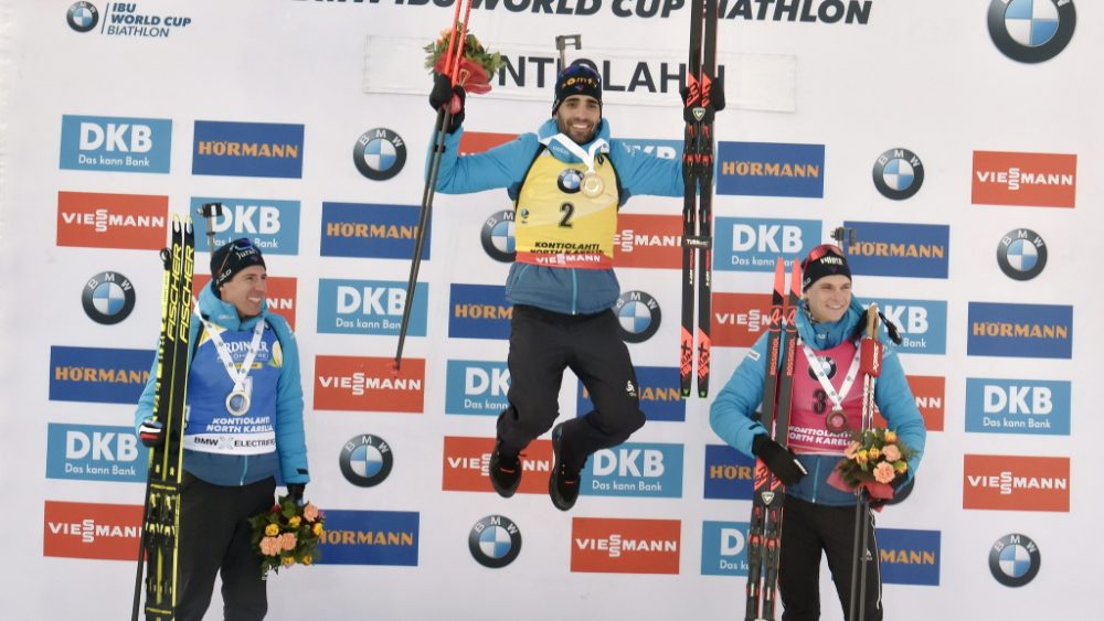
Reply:
[[[131, 621], [138, 621], [146, 569], [146, 621], [172, 621], [177, 606], [180, 542], [180, 479], [183, 474], [184, 403], [192, 319], [195, 233], [191, 218], [172, 217], [171, 245], [161, 250], [161, 336], [158, 345], [153, 419], [164, 441], [150, 450], [146, 507], [139, 536]], [[145, 560], [144, 560], [145, 558]]]

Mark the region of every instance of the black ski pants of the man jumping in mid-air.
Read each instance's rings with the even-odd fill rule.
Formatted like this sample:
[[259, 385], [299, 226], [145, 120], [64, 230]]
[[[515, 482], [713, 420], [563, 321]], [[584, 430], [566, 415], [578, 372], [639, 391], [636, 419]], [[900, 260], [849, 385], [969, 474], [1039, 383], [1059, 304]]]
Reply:
[[561, 447], [569, 471], [595, 451], [615, 447], [644, 426], [636, 371], [612, 310], [569, 315], [517, 304], [510, 321], [510, 406], [498, 418], [505, 454], [517, 454], [560, 416], [560, 385], [571, 368], [594, 410], [564, 422]]

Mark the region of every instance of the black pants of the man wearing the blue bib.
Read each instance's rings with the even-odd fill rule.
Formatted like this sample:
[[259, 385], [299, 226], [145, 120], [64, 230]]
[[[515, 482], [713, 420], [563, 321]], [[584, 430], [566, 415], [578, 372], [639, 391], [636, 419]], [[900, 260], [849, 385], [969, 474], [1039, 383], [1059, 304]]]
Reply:
[[244, 486], [208, 483], [184, 472], [180, 492], [180, 578], [177, 621], [202, 621], [216, 574], [223, 618], [261, 621], [268, 611], [261, 563], [250, 546], [250, 517], [272, 508], [276, 480]]

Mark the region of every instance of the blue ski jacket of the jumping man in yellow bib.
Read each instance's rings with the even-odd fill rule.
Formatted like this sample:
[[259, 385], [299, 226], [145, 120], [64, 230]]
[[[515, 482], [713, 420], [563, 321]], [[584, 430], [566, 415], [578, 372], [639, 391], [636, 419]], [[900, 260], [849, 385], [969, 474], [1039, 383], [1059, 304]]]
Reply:
[[[560, 132], [555, 119], [549, 119], [535, 133], [522, 133], [516, 140], [482, 153], [457, 157], [464, 128], [445, 135], [436, 190], [445, 194], [466, 194], [505, 188], [517, 200], [530, 163], [539, 152], [540, 139]], [[595, 137], [582, 144], [590, 148], [602, 138], [609, 142], [609, 161], [619, 182], [619, 205], [634, 194], [682, 196], [682, 163], [645, 153], [609, 138], [609, 121], [598, 122]], [[431, 146], [432, 148], [432, 146]], [[553, 141], [549, 151], [560, 161], [578, 163], [580, 159]], [[428, 160], [427, 164], [428, 167]], [[618, 206], [619, 206], [618, 205]], [[528, 304], [563, 314], [591, 314], [613, 308], [620, 296], [620, 285], [613, 269], [580, 269], [513, 264], [506, 281], [506, 298], [513, 304]]]

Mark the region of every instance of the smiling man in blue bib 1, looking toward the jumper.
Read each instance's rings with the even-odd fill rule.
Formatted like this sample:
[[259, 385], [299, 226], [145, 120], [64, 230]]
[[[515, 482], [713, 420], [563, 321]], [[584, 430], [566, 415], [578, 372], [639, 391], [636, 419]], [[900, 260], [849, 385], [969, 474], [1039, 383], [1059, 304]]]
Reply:
[[[287, 321], [268, 310], [259, 248], [246, 238], [220, 247], [211, 276], [189, 339], [197, 345], [188, 375], [176, 618], [203, 619], [221, 571], [225, 618], [253, 621], [264, 619], [268, 601], [247, 520], [272, 508], [277, 470], [296, 500], [310, 480], [299, 347]], [[156, 373], [135, 414], [147, 447], [164, 441], [152, 419], [155, 384]]]

